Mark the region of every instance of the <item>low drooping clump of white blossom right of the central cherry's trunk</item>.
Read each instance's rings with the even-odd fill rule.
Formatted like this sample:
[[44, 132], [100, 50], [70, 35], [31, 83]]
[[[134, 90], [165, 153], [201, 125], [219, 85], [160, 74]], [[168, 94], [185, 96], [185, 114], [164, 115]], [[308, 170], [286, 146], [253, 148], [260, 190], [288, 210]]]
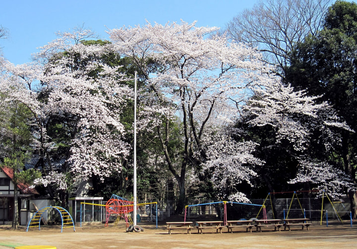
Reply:
[[218, 189], [220, 199], [249, 203], [238, 186], [245, 182], [253, 187], [250, 179], [257, 175], [254, 168], [264, 162], [253, 155], [258, 144], [239, 141], [239, 133], [239, 129], [230, 126], [205, 137], [207, 161], [203, 164], [203, 171]]

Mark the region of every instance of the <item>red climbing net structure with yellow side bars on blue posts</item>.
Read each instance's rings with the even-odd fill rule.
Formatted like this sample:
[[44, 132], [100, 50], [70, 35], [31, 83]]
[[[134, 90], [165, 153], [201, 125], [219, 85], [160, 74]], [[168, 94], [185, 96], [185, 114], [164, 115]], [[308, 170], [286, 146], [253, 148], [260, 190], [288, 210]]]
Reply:
[[[141, 222], [146, 218], [147, 221], [156, 221], [156, 227], [158, 222], [158, 208], [157, 202], [151, 203], [137, 203], [137, 222]], [[88, 208], [92, 206], [92, 208]], [[94, 208], [97, 207], [97, 208]], [[99, 208], [100, 207], [100, 208]], [[90, 221], [86, 218], [87, 210], [99, 210], [103, 213], [102, 221], [105, 220], [105, 226], [109, 226], [109, 223], [114, 223], [117, 225], [120, 219], [123, 219], [126, 223], [126, 227], [133, 224], [132, 213], [134, 210], [133, 201], [126, 200], [125, 198], [119, 197], [117, 195], [112, 195], [111, 199], [107, 201], [105, 205], [93, 204], [93, 203], [80, 203], [80, 226], [82, 227], [82, 222]], [[145, 210], [143, 213], [142, 210]], [[148, 209], [150, 211], [148, 211]]]

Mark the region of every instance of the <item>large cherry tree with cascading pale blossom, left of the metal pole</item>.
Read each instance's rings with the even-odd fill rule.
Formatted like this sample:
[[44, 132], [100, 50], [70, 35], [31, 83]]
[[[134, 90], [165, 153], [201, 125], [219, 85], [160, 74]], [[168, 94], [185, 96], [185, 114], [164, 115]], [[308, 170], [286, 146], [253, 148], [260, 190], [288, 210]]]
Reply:
[[132, 90], [120, 67], [102, 60], [111, 44], [72, 44], [72, 39], [73, 34], [64, 34], [42, 47], [34, 63], [7, 64], [9, 97], [33, 114], [36, 166], [45, 174], [36, 183], [55, 184], [62, 192], [76, 179], [120, 172], [130, 151], [120, 114]]

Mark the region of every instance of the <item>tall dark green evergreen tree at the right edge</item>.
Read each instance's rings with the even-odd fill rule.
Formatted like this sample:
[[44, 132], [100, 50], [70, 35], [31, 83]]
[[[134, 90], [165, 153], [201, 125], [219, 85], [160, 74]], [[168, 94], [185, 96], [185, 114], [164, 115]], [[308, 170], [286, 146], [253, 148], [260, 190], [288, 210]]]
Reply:
[[[316, 37], [298, 43], [291, 57], [287, 82], [321, 96], [321, 101], [331, 103], [338, 115], [357, 130], [357, 4], [336, 1], [326, 14], [324, 29]], [[341, 154], [345, 172], [353, 178], [356, 149], [356, 132], [345, 132]]]

